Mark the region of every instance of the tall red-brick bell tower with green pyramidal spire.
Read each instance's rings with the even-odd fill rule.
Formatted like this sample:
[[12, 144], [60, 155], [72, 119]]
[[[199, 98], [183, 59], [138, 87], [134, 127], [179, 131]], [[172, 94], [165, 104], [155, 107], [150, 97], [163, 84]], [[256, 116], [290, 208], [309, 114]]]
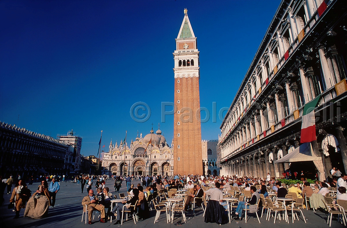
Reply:
[[202, 175], [199, 52], [187, 9], [176, 39], [174, 173]]

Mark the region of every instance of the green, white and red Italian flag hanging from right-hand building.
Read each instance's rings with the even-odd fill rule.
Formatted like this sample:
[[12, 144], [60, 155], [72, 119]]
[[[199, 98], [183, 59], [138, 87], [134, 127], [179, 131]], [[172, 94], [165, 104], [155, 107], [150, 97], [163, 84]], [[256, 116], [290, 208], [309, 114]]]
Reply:
[[300, 142], [312, 142], [316, 140], [316, 125], [314, 117], [314, 108], [317, 106], [321, 95], [308, 102], [303, 111], [301, 125]]

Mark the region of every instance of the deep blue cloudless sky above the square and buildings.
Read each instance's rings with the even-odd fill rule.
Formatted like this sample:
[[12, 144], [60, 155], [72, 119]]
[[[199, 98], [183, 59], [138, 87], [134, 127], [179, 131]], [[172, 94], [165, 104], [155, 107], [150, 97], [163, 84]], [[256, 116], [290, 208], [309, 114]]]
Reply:
[[[135, 140], [174, 100], [175, 38], [188, 9], [200, 51], [202, 139], [217, 139], [212, 102], [229, 107], [280, 1], [0, 1], [0, 121], [56, 137], [73, 129], [82, 154]], [[145, 102], [137, 123], [130, 107]], [[140, 113], [141, 114], [141, 113]], [[225, 114], [225, 113], [224, 113]], [[18, 120], [19, 115], [19, 120]], [[204, 115], [202, 114], [202, 117]], [[171, 145], [173, 116], [161, 131]]]

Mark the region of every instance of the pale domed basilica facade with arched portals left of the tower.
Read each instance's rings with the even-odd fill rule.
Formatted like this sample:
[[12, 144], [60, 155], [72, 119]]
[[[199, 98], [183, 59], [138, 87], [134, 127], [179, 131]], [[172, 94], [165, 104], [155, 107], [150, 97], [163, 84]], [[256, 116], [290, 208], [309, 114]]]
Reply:
[[[172, 147], [172, 146], [171, 146]], [[161, 130], [152, 130], [145, 137], [120, 142], [109, 146], [102, 160], [103, 173], [106, 175], [174, 175], [174, 151], [169, 147]], [[147, 149], [146, 149], [147, 148]]]

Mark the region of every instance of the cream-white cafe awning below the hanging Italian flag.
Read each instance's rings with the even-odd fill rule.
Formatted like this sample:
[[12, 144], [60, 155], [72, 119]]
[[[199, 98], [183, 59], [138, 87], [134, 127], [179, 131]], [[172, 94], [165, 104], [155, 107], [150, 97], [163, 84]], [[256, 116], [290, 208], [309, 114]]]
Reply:
[[[302, 152], [307, 152], [308, 154], [311, 152], [312, 156], [302, 154], [300, 153], [300, 150]], [[311, 143], [307, 143], [307, 144], [304, 143], [300, 145], [299, 147], [295, 148], [292, 152], [290, 152], [283, 158], [274, 161], [274, 163], [289, 163], [294, 161], [316, 161], [316, 160], [322, 160], [322, 158], [317, 157], [314, 154]]]

